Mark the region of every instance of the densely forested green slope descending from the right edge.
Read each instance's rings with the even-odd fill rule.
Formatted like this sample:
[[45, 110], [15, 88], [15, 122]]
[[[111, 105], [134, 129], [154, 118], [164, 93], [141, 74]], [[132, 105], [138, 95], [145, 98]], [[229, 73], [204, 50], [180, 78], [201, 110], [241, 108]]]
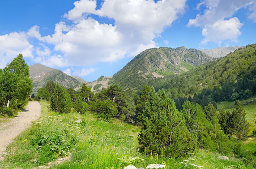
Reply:
[[[223, 91], [229, 99], [233, 92], [241, 95], [246, 89], [256, 92], [256, 45], [238, 48], [233, 53], [184, 74], [172, 75], [148, 83], [156, 90], [165, 89], [172, 97], [184, 97], [214, 87]], [[219, 92], [219, 91], [218, 91]]]

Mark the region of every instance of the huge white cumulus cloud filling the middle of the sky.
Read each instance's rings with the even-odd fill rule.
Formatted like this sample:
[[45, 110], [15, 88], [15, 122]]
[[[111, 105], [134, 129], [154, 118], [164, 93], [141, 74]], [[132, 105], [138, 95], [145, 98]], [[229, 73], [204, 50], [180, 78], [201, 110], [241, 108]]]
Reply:
[[[155, 47], [153, 39], [184, 12], [186, 0], [106, 0], [97, 10], [93, 0], [74, 5], [64, 15], [72, 24], [60, 22], [53, 35], [39, 38], [53, 44], [70, 65], [92, 65]], [[113, 23], [105, 24], [104, 19], [112, 19]]]

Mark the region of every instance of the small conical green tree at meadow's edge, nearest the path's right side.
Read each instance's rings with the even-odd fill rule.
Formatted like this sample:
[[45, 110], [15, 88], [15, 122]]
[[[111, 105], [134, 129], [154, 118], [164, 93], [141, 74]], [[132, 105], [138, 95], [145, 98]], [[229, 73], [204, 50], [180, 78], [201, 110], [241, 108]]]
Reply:
[[59, 113], [70, 113], [71, 99], [63, 86], [56, 84], [52, 97], [50, 97], [50, 108]]

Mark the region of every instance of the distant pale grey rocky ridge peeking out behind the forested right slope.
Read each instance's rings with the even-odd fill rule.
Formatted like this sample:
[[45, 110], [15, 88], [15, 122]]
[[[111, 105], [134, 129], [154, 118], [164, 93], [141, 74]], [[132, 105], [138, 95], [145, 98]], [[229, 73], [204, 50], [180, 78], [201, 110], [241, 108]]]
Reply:
[[211, 57], [224, 57], [224, 56], [227, 56], [230, 52], [233, 52], [241, 47], [244, 47], [244, 46], [218, 47], [211, 50], [204, 49], [200, 51], [204, 52], [205, 54]]

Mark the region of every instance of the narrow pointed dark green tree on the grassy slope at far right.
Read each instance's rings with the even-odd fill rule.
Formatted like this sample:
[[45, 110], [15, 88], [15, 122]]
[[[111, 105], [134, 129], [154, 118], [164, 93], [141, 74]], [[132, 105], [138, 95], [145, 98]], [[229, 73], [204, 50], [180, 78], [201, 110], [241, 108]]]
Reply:
[[249, 123], [245, 119], [245, 110], [239, 100], [236, 101], [236, 109], [232, 112], [233, 134], [240, 140], [245, 140], [249, 132]]

